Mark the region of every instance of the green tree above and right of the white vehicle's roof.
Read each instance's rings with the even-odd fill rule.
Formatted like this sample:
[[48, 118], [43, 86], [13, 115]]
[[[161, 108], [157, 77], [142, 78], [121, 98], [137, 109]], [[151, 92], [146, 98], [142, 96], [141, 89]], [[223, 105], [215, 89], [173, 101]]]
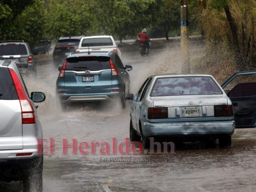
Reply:
[[98, 33], [118, 36], [122, 42], [125, 36], [134, 36], [138, 30], [150, 25], [148, 12], [154, 0], [95, 0], [92, 10], [95, 14]]

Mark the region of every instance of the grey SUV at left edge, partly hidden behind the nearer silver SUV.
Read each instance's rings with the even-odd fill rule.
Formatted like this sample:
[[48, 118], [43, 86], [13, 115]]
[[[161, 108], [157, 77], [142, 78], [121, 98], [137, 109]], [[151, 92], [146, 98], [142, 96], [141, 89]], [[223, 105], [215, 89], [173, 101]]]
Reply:
[[[37, 74], [37, 62], [29, 45], [23, 40], [0, 41], [0, 59], [10, 59], [20, 71], [28, 75]], [[22, 70], [24, 69], [24, 70]]]

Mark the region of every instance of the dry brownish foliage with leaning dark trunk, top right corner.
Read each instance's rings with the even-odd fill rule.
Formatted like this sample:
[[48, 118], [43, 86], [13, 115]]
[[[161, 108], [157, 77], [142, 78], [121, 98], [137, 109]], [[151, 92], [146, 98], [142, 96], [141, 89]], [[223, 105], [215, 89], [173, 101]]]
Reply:
[[200, 21], [208, 38], [229, 42], [240, 70], [251, 69], [256, 52], [256, 0], [208, 0]]

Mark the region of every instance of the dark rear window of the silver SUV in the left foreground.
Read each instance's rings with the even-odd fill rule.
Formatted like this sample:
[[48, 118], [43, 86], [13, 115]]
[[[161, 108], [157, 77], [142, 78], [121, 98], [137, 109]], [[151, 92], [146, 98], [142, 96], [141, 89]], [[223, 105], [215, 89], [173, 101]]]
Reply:
[[11, 73], [8, 68], [0, 67], [0, 100], [19, 99]]

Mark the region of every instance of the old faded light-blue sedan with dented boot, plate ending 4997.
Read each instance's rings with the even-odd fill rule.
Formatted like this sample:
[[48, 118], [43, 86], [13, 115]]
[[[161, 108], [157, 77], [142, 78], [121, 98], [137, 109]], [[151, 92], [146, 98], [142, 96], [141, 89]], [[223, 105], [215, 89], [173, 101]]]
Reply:
[[235, 129], [230, 98], [211, 75], [150, 76], [132, 100], [130, 140], [149, 147], [149, 138], [200, 139], [230, 145]]

